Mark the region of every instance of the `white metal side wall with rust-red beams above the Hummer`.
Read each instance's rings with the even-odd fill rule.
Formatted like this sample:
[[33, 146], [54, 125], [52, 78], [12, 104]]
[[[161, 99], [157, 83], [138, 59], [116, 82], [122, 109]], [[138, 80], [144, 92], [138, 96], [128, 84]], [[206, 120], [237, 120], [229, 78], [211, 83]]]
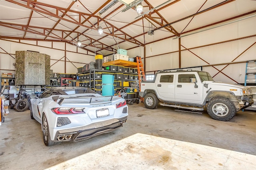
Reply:
[[[155, 31], [154, 36], [157, 36], [157, 33], [158, 31]], [[252, 35], [254, 35], [254, 37], [230, 41]], [[181, 37], [181, 68], [204, 66], [203, 70], [210, 72], [216, 81], [244, 83], [246, 63], [230, 64], [226, 68], [224, 68], [226, 65], [214, 66], [215, 68], [207, 65], [255, 60], [255, 35], [256, 17], [252, 17], [246, 20], [209, 29], [207, 31]], [[220, 43], [223, 41], [230, 42]], [[213, 43], [219, 44], [210, 45]], [[253, 46], [250, 47], [251, 45]], [[194, 47], [199, 48], [190, 49]], [[250, 48], [244, 52], [248, 47]], [[188, 51], [185, 49], [190, 50]], [[177, 51], [178, 38], [165, 39], [146, 45], [146, 72], [152, 73], [157, 70], [179, 68], [179, 55]], [[243, 54], [241, 55], [241, 53]], [[236, 57], [238, 58], [236, 59]], [[222, 70], [223, 68], [224, 70]], [[222, 70], [224, 74], [233, 80], [221, 72], [218, 73], [219, 70]]]

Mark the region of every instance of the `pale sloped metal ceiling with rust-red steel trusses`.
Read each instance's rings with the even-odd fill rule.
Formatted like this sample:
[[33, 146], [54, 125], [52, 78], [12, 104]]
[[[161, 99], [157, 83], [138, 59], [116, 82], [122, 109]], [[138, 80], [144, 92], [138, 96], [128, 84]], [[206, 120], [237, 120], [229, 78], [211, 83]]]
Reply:
[[[81, 48], [109, 55], [256, 14], [255, 0], [143, 0], [141, 14], [134, 8], [141, 0], [128, 6], [126, 1], [0, 0], [0, 39], [70, 44], [79, 39]], [[154, 35], [148, 35], [151, 30]]]

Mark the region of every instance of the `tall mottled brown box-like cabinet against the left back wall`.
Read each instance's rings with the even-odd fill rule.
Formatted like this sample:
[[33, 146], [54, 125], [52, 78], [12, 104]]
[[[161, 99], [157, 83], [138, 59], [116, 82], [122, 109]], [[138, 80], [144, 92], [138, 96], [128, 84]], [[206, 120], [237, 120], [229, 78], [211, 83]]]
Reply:
[[50, 55], [16, 51], [15, 75], [16, 85], [49, 85]]

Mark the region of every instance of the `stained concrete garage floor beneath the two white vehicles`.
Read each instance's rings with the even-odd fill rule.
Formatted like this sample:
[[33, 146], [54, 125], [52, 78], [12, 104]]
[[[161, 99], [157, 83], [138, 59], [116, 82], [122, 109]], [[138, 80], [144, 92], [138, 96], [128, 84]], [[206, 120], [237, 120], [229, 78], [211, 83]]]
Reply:
[[[85, 141], [62, 142], [52, 147], [44, 145], [41, 125], [37, 121], [30, 119], [29, 110], [16, 112], [13, 109], [9, 109], [10, 113], [5, 116], [5, 122], [0, 126], [0, 169], [78, 169], [78, 167], [72, 168], [73, 166], [65, 168], [63, 162], [72, 160], [73, 163], [76, 162], [76, 166], [85, 164], [85, 157], [87, 156], [95, 156], [95, 158], [110, 156], [110, 154], [102, 154], [102, 150], [107, 149], [106, 151], [108, 152], [120, 153], [120, 148], [117, 147], [122, 146], [124, 143], [129, 143], [129, 141], [134, 141], [134, 145], [142, 145], [143, 137], [148, 141], [145, 146], [148, 143], [152, 143], [152, 145], [153, 143], [154, 145], [158, 143], [159, 146], [163, 146], [163, 149], [164, 146], [172, 145], [172, 143], [176, 143], [174, 146], [177, 147], [190, 146], [192, 144], [193, 146], [190, 146], [190, 148], [195, 147], [195, 153], [197, 152], [197, 147], [198, 155], [201, 155], [201, 157], [202, 155], [207, 157], [209, 154], [209, 157], [212, 158], [213, 154], [209, 152], [209, 149], [200, 150], [199, 148], [210, 147], [212, 150], [215, 147], [215, 149], [221, 150], [220, 152], [224, 152], [222, 149], [225, 152], [226, 150], [231, 150], [230, 152], [232, 153], [235, 151], [236, 156], [239, 157], [239, 164], [246, 163], [250, 169], [256, 169], [256, 164], [248, 160], [249, 157], [256, 160], [256, 112], [254, 111], [239, 111], [231, 121], [222, 122], [211, 119], [206, 111], [203, 114], [187, 113], [174, 111], [174, 108], [163, 106], [158, 106], [157, 109], [151, 110], [146, 109], [142, 103], [128, 105], [128, 108], [128, 121], [124, 124], [124, 127], [112, 133], [103, 134]], [[142, 137], [138, 136], [137, 133], [145, 135]], [[150, 140], [152, 141], [150, 142]], [[166, 141], [167, 144], [161, 142], [162, 140]], [[180, 142], [177, 144], [177, 141]], [[141, 147], [137, 148], [141, 150]], [[170, 151], [173, 151], [173, 149], [175, 147], [170, 147]], [[189, 149], [182, 152], [183, 154], [192, 153]], [[154, 151], [149, 152], [149, 154], [152, 153], [156, 154]], [[220, 156], [219, 152], [215, 153], [216, 156]], [[79, 159], [81, 156], [84, 156], [83, 159]], [[129, 159], [121, 156], [120, 159], [118, 158], [117, 155], [114, 155], [114, 157], [112, 156], [111, 159], [108, 159], [108, 166], [106, 166], [106, 162], [104, 166], [103, 164], [99, 166], [99, 162], [97, 162], [97, 166], [94, 163], [94, 168], [170, 169], [170, 161], [168, 166], [167, 164], [161, 164], [161, 166], [154, 167], [146, 163], [138, 164], [138, 168], [134, 168], [135, 166], [116, 166], [116, 164], [120, 164], [120, 160], [124, 164], [125, 162], [130, 162], [136, 165], [136, 161], [133, 162], [130, 157]], [[223, 159], [229, 158], [223, 157]], [[194, 157], [193, 159], [197, 158]], [[82, 162], [82, 160], [85, 162]], [[164, 160], [166, 161], [166, 159]], [[188, 165], [183, 166], [185, 163], [181, 160], [186, 160], [186, 158], [180, 158], [180, 162], [177, 159], [173, 160], [176, 160], [176, 165], [179, 164], [180, 166], [175, 166], [176, 168], [172, 166], [171, 169], [187, 169], [190, 166], [190, 169], [238, 169], [232, 166], [226, 166], [226, 168], [223, 166], [212, 167], [210, 164], [208, 168], [206, 166], [195, 168], [188, 162], [185, 162]], [[234, 159], [234, 161], [236, 160]], [[93, 161], [90, 164], [93, 165]], [[72, 164], [70, 163], [70, 165]], [[207, 164], [204, 163], [204, 165]], [[199, 165], [197, 164], [196, 166], [198, 167]], [[94, 169], [93, 166], [84, 167], [83, 169], [88, 168]]]

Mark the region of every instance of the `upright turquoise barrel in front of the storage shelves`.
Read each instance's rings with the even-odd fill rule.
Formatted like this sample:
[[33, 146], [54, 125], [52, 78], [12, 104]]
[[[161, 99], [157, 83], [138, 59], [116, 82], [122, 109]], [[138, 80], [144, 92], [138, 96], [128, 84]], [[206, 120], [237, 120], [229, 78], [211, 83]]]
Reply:
[[102, 75], [102, 96], [114, 95], [114, 76]]

